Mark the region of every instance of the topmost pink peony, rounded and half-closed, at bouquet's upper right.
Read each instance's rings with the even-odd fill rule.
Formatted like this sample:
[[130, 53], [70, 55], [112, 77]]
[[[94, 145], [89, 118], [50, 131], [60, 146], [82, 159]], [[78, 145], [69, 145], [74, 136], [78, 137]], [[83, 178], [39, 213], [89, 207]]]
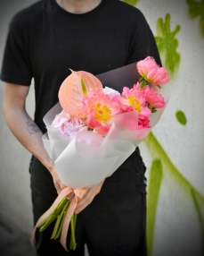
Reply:
[[139, 61], [137, 64], [138, 73], [140, 73], [144, 80], [152, 84], [165, 84], [169, 81], [167, 70], [164, 67], [159, 67], [156, 61], [151, 56]]

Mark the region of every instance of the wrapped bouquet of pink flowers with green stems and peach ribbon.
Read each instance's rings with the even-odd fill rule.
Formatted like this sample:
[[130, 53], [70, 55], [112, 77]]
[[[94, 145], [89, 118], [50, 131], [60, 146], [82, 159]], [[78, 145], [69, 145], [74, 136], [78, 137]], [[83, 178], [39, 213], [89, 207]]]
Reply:
[[[168, 90], [162, 92], [162, 88], [159, 93], [161, 85], [169, 81], [167, 70], [150, 56], [133, 65], [139, 80], [123, 85], [121, 93], [111, 86], [103, 89], [99, 78], [84, 71], [71, 71], [62, 82], [60, 102], [44, 117], [47, 133], [43, 141], [67, 187], [37, 221], [32, 243], [37, 228], [44, 231], [57, 219], [51, 238], [61, 236], [67, 250], [70, 227], [69, 249], [74, 250], [78, 198], [86, 194], [86, 187], [112, 175], [158, 123], [169, 97]], [[126, 77], [129, 67], [118, 70]], [[114, 80], [114, 71], [103, 77]]]

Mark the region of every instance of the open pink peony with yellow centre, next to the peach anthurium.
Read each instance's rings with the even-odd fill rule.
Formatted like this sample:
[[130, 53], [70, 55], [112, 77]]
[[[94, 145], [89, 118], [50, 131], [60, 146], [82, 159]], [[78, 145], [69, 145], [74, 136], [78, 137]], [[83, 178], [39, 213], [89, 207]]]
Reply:
[[95, 132], [105, 135], [113, 123], [113, 117], [119, 112], [120, 104], [118, 101], [102, 93], [93, 94], [87, 99], [86, 124]]

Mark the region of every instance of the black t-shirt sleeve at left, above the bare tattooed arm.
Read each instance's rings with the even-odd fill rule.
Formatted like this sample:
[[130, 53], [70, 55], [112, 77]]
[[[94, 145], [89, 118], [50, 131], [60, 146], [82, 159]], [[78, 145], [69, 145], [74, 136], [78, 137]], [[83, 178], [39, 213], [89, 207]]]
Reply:
[[22, 15], [15, 15], [10, 23], [0, 79], [29, 86], [33, 76], [29, 61], [29, 31], [22, 18]]

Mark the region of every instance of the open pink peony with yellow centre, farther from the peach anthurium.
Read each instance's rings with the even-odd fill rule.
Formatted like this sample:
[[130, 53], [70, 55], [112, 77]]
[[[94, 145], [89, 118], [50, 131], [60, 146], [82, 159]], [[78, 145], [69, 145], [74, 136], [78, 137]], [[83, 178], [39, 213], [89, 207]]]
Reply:
[[140, 90], [139, 82], [132, 89], [124, 87], [122, 97], [118, 100], [123, 105], [123, 109], [126, 107], [126, 112], [134, 109], [138, 111], [139, 119], [146, 119], [151, 115], [151, 110], [146, 106], [146, 94], [144, 90]]

